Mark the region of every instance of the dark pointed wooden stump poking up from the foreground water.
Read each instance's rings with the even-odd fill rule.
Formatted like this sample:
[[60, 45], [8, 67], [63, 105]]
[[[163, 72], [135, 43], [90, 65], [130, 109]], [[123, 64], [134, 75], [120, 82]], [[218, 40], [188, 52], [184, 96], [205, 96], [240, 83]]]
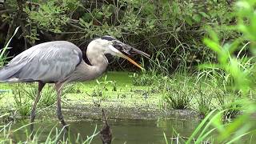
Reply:
[[100, 135], [102, 138], [102, 144], [110, 144], [112, 141], [112, 134], [111, 134], [110, 126], [106, 119], [105, 111], [103, 109], [102, 109], [102, 122], [103, 122], [103, 126], [100, 132]]

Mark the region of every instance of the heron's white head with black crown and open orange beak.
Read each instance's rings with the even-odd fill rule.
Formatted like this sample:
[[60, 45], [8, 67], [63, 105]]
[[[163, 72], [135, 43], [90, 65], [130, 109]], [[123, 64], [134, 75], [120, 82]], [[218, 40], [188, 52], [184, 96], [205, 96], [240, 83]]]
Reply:
[[[143, 69], [142, 66], [139, 66], [138, 63], [134, 62], [134, 60], [131, 59], [129, 56], [134, 54], [142, 54], [147, 58], [150, 57], [149, 54], [146, 54], [141, 50], [137, 50], [132, 46], [126, 45], [125, 43], [118, 41], [118, 39], [108, 35], [103, 36], [102, 38], [94, 39], [92, 42], [90, 42], [89, 45], [94, 45], [94, 46], [88, 46], [88, 48], [97, 47], [98, 50], [100, 50], [103, 54], [111, 54], [114, 56], [125, 58], [129, 62], [133, 63], [135, 66], [138, 66], [141, 69]], [[87, 49], [87, 53], [88, 53], [88, 49]]]

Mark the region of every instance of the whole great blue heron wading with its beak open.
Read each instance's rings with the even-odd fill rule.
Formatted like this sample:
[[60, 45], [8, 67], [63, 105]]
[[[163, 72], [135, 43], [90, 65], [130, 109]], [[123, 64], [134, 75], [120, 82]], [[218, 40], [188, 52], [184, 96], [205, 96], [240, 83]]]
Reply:
[[[141, 66], [126, 56], [126, 54], [133, 53], [149, 56], [116, 38], [103, 36], [94, 39], [87, 46], [86, 56], [90, 61], [90, 64], [87, 64], [82, 59], [82, 51], [73, 43], [66, 41], [45, 42], [23, 51], [6, 66], [3, 66], [0, 69], [0, 82], [38, 82], [38, 94], [30, 114], [31, 123], [34, 122], [35, 109], [43, 86], [46, 83], [55, 83], [58, 120], [63, 126], [66, 126], [61, 110], [62, 85], [66, 82], [82, 82], [98, 78], [108, 66], [105, 54], [126, 58], [142, 69]], [[33, 126], [31, 124], [31, 130], [33, 130]]]

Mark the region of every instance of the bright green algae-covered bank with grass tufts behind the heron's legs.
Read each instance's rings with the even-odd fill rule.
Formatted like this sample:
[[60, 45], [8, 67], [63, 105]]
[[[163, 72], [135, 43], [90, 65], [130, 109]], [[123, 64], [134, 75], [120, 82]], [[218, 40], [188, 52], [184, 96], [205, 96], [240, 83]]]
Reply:
[[[127, 72], [108, 72], [97, 81], [72, 83], [66, 86], [62, 98], [64, 106], [94, 106], [139, 108], [145, 110], [194, 110], [206, 116], [210, 110], [224, 110], [234, 102], [222, 88], [196, 82], [193, 75], [174, 74], [170, 78], [158, 77], [151, 86], [134, 86], [133, 78]], [[6, 111], [15, 107], [17, 114], [25, 118], [36, 94], [36, 84], [1, 84], [0, 89], [12, 92], [2, 93], [0, 106]], [[55, 106], [56, 92], [53, 86], [43, 89], [38, 108]], [[230, 106], [234, 107], [234, 106]], [[13, 110], [13, 109], [12, 109]], [[232, 118], [239, 110], [230, 112]]]

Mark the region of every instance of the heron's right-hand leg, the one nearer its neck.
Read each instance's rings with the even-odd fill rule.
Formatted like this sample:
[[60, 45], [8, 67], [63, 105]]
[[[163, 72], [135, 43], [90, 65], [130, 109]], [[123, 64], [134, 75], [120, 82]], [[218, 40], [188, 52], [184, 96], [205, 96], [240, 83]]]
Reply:
[[61, 96], [62, 96], [62, 83], [55, 83], [55, 89], [57, 91], [57, 116], [58, 120], [62, 123], [62, 126], [65, 126], [65, 129], [68, 130], [68, 126], [64, 121], [62, 115], [62, 104], [61, 104]]

